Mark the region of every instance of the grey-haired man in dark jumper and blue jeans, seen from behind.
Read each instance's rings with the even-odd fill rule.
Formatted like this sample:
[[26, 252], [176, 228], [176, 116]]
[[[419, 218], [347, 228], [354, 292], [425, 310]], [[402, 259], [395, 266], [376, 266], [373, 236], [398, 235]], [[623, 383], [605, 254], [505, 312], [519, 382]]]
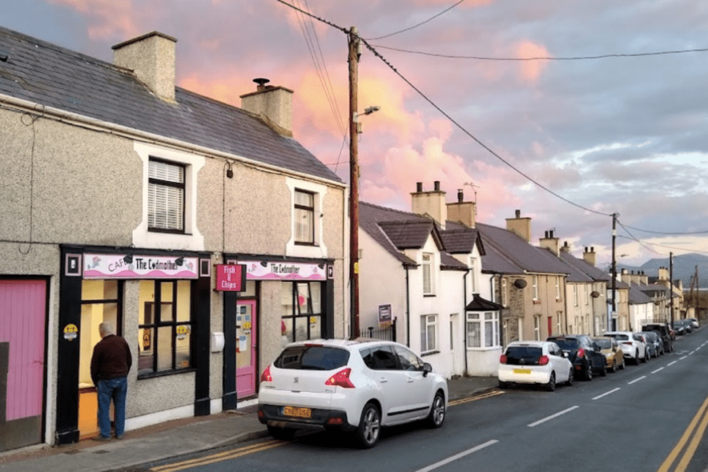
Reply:
[[101, 323], [98, 326], [101, 340], [93, 347], [91, 357], [91, 380], [98, 392], [98, 427], [101, 434], [97, 441], [110, 441], [110, 400], [113, 398], [115, 410], [115, 439], [123, 439], [125, 432], [125, 395], [127, 375], [132, 365], [130, 347], [125, 339], [115, 335], [113, 325]]

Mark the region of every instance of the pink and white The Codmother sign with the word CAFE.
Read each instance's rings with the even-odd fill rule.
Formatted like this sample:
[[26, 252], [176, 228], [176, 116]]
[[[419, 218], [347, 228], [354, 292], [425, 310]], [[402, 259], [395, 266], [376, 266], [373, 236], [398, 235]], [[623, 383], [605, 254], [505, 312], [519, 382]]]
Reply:
[[126, 262], [125, 254], [84, 254], [84, 279], [196, 279], [198, 266], [198, 258], [173, 255], [134, 254]]

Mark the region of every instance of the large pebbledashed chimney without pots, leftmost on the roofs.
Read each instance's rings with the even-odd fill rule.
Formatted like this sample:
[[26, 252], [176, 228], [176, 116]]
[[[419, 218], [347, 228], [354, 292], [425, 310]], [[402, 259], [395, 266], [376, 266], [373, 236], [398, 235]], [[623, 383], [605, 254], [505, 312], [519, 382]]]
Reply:
[[132, 69], [139, 81], [162, 100], [175, 101], [177, 40], [153, 31], [113, 46], [113, 64]]

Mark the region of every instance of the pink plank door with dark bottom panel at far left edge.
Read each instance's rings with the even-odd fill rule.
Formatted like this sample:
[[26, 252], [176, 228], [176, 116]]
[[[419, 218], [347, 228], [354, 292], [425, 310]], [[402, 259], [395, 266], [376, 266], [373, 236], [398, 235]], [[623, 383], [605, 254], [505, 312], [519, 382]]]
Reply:
[[44, 280], [0, 280], [0, 452], [42, 442]]

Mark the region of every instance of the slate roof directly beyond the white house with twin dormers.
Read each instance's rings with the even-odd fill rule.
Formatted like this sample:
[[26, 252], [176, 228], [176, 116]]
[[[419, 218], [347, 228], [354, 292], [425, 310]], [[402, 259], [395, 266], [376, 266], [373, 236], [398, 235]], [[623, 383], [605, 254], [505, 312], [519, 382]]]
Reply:
[[[513, 265], [518, 266], [520, 272], [523, 273], [537, 272], [545, 274], [568, 274], [570, 268], [562, 260], [556, 257], [547, 249], [537, 248], [532, 246], [524, 238], [508, 229], [498, 228], [489, 224], [476, 223], [475, 227], [481, 234], [484, 247], [495, 248], [498, 253]], [[485, 258], [482, 258], [482, 270], [489, 271], [485, 267]]]

